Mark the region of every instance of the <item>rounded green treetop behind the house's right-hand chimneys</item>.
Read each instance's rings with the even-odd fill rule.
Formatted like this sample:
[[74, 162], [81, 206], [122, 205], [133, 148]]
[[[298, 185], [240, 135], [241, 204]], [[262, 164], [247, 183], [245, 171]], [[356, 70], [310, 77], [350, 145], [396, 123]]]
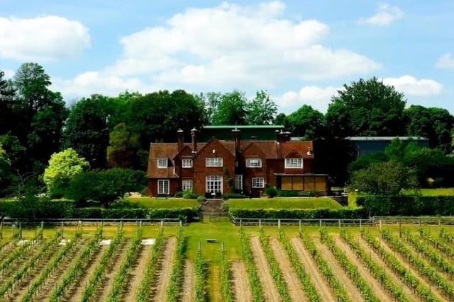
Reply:
[[309, 105], [302, 105], [297, 111], [287, 115], [284, 126], [294, 136], [316, 139], [323, 135], [323, 114]]

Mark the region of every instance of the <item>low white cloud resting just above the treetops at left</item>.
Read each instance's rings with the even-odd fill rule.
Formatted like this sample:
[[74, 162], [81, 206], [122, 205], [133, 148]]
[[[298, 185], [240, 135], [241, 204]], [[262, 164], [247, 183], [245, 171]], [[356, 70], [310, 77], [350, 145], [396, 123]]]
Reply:
[[72, 80], [52, 79], [52, 82], [52, 89], [60, 91], [66, 98], [87, 97], [94, 93], [118, 95], [126, 90], [141, 93], [153, 91], [153, 87], [146, 86], [140, 79], [121, 79], [98, 71], [88, 71]]

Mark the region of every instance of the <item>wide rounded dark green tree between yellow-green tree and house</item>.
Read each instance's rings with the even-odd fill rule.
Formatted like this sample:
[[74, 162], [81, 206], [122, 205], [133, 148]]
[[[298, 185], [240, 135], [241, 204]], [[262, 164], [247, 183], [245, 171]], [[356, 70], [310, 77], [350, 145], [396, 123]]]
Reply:
[[77, 202], [96, 200], [109, 207], [127, 192], [142, 190], [145, 184], [145, 173], [142, 171], [122, 168], [91, 170], [75, 175], [65, 196]]

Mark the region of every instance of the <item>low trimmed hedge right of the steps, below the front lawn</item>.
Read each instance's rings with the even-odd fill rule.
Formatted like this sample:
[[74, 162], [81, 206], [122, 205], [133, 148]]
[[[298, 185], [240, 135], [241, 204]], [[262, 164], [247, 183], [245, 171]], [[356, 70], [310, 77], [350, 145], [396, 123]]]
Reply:
[[362, 208], [343, 209], [229, 209], [236, 218], [255, 219], [365, 219], [367, 211]]

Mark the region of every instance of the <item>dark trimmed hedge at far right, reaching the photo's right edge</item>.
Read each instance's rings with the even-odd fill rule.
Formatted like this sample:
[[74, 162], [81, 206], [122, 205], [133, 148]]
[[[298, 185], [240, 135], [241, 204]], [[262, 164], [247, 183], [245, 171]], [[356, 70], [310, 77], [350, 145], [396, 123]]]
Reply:
[[362, 196], [356, 199], [371, 216], [450, 216], [454, 196]]

